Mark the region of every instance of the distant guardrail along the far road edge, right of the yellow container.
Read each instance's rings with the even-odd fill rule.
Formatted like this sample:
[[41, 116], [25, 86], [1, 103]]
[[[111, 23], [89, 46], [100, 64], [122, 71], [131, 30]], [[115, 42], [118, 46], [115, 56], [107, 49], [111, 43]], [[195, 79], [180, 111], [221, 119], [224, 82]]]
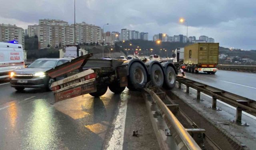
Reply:
[[221, 70], [235, 70], [235, 71], [250, 71], [256, 72], [256, 66], [244, 66], [244, 65], [218, 65], [218, 69]]

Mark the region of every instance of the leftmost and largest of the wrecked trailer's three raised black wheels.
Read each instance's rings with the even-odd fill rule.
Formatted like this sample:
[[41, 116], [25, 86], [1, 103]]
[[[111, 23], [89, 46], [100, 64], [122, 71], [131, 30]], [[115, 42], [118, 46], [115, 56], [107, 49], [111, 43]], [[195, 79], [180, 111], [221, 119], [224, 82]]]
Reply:
[[131, 90], [141, 90], [147, 84], [147, 73], [139, 62], [134, 62], [130, 66], [128, 76], [128, 88]]

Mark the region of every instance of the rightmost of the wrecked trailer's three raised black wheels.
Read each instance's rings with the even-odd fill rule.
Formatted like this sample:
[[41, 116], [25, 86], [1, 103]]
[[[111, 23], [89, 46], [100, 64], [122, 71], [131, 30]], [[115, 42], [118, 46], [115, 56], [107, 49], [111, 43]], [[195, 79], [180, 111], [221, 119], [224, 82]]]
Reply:
[[172, 89], [176, 85], [176, 73], [174, 68], [168, 66], [166, 68], [165, 77], [164, 77], [164, 88]]

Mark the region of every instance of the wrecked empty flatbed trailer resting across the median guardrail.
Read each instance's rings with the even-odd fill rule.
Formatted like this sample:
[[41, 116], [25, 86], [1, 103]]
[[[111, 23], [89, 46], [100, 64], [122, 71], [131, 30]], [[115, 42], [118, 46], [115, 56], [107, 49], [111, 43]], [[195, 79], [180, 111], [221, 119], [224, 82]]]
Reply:
[[141, 90], [149, 81], [167, 89], [176, 84], [177, 70], [172, 62], [89, 59], [91, 56], [80, 56], [46, 72], [53, 79], [66, 76], [52, 84], [55, 102], [83, 94], [102, 96], [108, 88], [116, 94], [126, 87]]

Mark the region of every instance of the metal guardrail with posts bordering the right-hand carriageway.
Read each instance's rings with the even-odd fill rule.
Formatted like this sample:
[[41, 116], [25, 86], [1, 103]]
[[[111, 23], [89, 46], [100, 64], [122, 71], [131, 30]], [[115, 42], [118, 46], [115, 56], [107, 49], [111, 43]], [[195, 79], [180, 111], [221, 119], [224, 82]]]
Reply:
[[206, 84], [202, 84], [194, 80], [184, 78], [182, 76], [177, 76], [176, 81], [178, 82], [179, 89], [181, 88], [181, 84], [186, 85], [186, 93], [189, 93], [190, 87], [196, 89], [197, 100], [200, 100], [200, 92], [203, 92], [207, 95], [212, 96], [212, 109], [214, 110], [220, 110], [220, 109], [217, 109], [216, 107], [217, 98], [218, 100], [221, 100], [227, 104], [235, 106], [236, 107], [235, 122], [239, 125], [246, 125], [246, 124], [242, 124], [242, 121], [241, 121], [242, 111], [248, 112], [249, 114], [256, 116], [256, 101], [254, 100], [251, 100], [249, 98], [245, 98], [242, 96], [238, 96], [236, 94], [226, 92], [224, 90], [214, 88], [212, 86], [208, 86]]

